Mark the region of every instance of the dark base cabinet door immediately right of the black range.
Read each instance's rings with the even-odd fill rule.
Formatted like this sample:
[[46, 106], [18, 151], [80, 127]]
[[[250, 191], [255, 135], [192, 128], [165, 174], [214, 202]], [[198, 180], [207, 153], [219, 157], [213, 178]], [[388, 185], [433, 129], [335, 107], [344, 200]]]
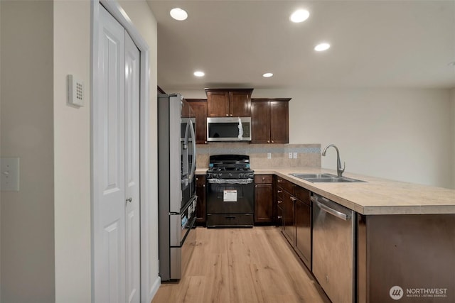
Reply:
[[272, 184], [255, 184], [255, 223], [272, 222], [272, 190]]

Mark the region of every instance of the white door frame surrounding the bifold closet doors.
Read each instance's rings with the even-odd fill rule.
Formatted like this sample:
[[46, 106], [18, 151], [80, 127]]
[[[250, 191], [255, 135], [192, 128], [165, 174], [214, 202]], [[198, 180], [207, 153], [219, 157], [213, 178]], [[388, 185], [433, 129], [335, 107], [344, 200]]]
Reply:
[[[92, 53], [91, 53], [91, 112], [93, 112], [93, 104], [97, 101], [98, 96], [98, 87], [95, 85], [95, 79], [97, 79], [97, 53], [98, 53], [98, 28], [99, 28], [99, 18], [100, 18], [100, 6], [105, 7], [109, 13], [114, 16], [117, 21], [122, 24], [125, 30], [129, 33], [131, 38], [133, 39], [134, 43], [137, 45], [139, 52], [141, 53], [141, 80], [140, 80], [140, 107], [139, 107], [139, 116], [140, 116], [140, 126], [139, 126], [139, 140], [140, 140], [140, 184], [141, 184], [141, 191], [140, 191], [140, 199], [141, 199], [141, 302], [149, 303], [154, 296], [154, 293], [159, 287], [159, 284], [156, 285], [155, 281], [152, 281], [150, 268], [150, 244], [149, 243], [149, 234], [151, 232], [151, 191], [150, 191], [150, 184], [151, 184], [151, 171], [149, 170], [150, 162], [151, 162], [151, 155], [150, 155], [150, 117], [149, 117], [149, 95], [150, 95], [150, 75], [149, 75], [149, 45], [147, 45], [146, 41], [141, 37], [137, 28], [134, 27], [131, 19], [127, 16], [125, 11], [122, 7], [116, 2], [112, 0], [92, 0], [91, 1], [91, 14], [92, 14], [92, 28], [91, 28], [91, 35], [92, 35]], [[91, 126], [90, 126], [90, 133], [93, 134], [93, 115], [91, 115]], [[91, 135], [92, 136], [92, 135]], [[93, 145], [93, 142], [91, 143]], [[91, 154], [91, 167], [93, 167], [93, 148], [90, 148]], [[94, 184], [93, 180], [93, 168], [91, 172], [92, 177], [92, 187]], [[94, 293], [95, 290], [93, 289], [94, 285], [94, 265], [93, 265], [93, 210], [94, 210], [94, 194], [92, 188], [92, 302], [94, 302]], [[153, 285], [151, 285], [153, 283]]]

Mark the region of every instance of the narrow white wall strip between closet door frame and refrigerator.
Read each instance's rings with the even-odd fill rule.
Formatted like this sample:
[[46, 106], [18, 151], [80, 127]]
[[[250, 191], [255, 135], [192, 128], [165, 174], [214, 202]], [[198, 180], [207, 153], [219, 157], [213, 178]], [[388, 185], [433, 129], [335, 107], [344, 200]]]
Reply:
[[[150, 62], [150, 104], [149, 104], [149, 118], [150, 118], [150, 133], [149, 140], [151, 143], [150, 152], [151, 152], [151, 162], [148, 167], [151, 172], [151, 184], [149, 184], [152, 201], [150, 206], [149, 218], [151, 219], [151, 228], [149, 229], [149, 251], [150, 251], [150, 264], [149, 272], [151, 273], [149, 294], [154, 295], [154, 292], [158, 290], [159, 287], [159, 262], [158, 262], [158, 162], [157, 162], [157, 142], [158, 142], [158, 133], [157, 133], [157, 118], [156, 118], [156, 82], [157, 82], [157, 24], [156, 19], [151, 12], [146, 1], [119, 1], [119, 4], [122, 6], [124, 11], [131, 18], [132, 23], [137, 28], [142, 38], [149, 45], [149, 62]], [[144, 167], [143, 167], [144, 168]]]

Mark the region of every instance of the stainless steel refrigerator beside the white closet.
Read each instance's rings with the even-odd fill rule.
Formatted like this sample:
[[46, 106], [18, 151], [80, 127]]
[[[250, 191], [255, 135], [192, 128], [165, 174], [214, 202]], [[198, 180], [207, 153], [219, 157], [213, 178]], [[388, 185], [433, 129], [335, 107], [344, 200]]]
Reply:
[[196, 241], [195, 116], [181, 94], [158, 95], [159, 275], [179, 280]]

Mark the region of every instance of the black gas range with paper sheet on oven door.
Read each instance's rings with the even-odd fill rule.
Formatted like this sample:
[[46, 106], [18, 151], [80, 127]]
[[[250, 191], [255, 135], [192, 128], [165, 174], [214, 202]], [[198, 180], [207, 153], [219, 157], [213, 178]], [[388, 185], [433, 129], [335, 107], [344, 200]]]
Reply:
[[207, 171], [207, 227], [252, 227], [255, 182], [248, 155], [211, 155]]

